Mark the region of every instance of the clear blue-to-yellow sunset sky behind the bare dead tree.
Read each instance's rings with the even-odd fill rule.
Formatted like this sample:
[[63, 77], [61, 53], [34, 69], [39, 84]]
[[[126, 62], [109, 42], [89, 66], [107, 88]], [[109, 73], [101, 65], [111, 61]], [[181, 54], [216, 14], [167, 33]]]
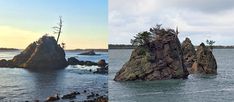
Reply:
[[63, 19], [66, 49], [108, 47], [107, 0], [0, 0], [0, 47], [26, 48]]

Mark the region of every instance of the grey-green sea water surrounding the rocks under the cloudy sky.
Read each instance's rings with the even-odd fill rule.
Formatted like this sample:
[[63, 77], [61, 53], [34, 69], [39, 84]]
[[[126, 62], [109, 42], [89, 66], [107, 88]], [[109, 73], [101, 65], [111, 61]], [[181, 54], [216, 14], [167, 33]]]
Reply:
[[214, 49], [217, 75], [189, 75], [188, 79], [115, 82], [132, 50], [109, 50], [110, 102], [233, 102], [234, 49]]

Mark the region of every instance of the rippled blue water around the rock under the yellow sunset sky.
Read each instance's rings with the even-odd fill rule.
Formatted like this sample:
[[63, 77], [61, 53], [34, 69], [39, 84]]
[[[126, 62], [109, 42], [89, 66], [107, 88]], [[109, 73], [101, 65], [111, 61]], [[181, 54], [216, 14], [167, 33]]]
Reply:
[[[12, 59], [20, 51], [0, 51], [0, 59]], [[77, 55], [78, 51], [67, 51], [66, 58], [76, 57], [79, 60], [97, 62], [105, 59], [108, 62], [107, 52], [97, 52], [97, 56]], [[40, 100], [58, 93], [60, 96], [72, 91], [87, 90], [108, 95], [107, 75], [93, 74], [89, 69], [96, 70], [97, 66], [68, 66], [64, 70], [33, 72], [22, 68], [0, 68], [0, 102], [22, 102]], [[87, 93], [87, 95], [88, 95]], [[86, 94], [76, 97], [74, 101], [86, 99]], [[61, 102], [70, 102], [62, 100]]]

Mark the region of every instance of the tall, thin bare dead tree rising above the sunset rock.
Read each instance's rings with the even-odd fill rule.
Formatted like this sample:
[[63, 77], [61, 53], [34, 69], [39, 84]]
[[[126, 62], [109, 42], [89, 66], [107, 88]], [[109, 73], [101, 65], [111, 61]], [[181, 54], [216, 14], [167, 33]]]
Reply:
[[57, 40], [56, 40], [57, 43], [58, 43], [60, 34], [62, 33], [62, 26], [63, 26], [62, 16], [59, 16], [59, 23], [58, 23], [58, 25], [53, 27], [53, 29], [54, 29], [54, 34], [57, 34], [57, 35], [58, 35]]

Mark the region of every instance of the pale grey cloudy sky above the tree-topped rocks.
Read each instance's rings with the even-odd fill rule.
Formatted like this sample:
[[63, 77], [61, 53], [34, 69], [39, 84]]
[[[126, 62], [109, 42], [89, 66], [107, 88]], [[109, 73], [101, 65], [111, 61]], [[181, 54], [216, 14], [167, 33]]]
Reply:
[[109, 0], [109, 43], [130, 44], [156, 24], [179, 28], [179, 39], [234, 45], [234, 0]]

